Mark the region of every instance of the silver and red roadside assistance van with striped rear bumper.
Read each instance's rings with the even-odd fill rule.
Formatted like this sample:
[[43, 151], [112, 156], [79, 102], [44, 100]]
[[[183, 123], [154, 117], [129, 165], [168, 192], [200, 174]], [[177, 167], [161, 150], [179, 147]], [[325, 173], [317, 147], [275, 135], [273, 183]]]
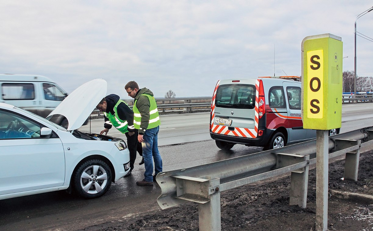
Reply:
[[[316, 138], [303, 129], [301, 82], [297, 76], [219, 80], [210, 117], [210, 136], [218, 148], [235, 144], [280, 148]], [[338, 129], [329, 135], [339, 133]]]

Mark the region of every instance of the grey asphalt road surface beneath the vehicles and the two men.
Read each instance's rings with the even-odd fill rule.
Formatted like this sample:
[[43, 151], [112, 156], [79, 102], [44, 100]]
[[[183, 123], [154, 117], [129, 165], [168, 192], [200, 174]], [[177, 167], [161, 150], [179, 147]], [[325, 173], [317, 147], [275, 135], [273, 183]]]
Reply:
[[[373, 103], [343, 105], [341, 132], [373, 126]], [[261, 148], [235, 145], [232, 150], [219, 150], [209, 135], [210, 113], [161, 116], [159, 148], [163, 170], [175, 170], [261, 151]], [[103, 119], [92, 120], [91, 131], [103, 128]], [[88, 129], [87, 129], [88, 128]], [[85, 126], [84, 130], [89, 130]], [[109, 134], [125, 136], [111, 129]], [[140, 157], [137, 159], [137, 163]], [[100, 198], [85, 200], [64, 191], [0, 200], [0, 230], [77, 230], [91, 225], [141, 215], [160, 209], [158, 185], [140, 187], [144, 165], [136, 164], [132, 176], [112, 184]]]

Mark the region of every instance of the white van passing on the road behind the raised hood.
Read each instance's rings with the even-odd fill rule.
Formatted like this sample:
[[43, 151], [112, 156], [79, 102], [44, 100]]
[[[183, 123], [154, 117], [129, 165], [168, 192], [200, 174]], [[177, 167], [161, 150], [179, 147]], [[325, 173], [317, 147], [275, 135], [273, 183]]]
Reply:
[[[38, 75], [0, 74], [0, 102], [46, 118], [67, 93], [50, 78]], [[66, 125], [63, 117], [53, 120]]]

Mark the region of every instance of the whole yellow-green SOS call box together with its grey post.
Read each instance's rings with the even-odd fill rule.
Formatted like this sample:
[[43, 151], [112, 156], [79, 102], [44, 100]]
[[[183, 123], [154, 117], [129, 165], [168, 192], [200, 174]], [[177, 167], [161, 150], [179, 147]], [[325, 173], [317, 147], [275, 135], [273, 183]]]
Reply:
[[302, 41], [302, 120], [316, 131], [316, 230], [327, 230], [329, 130], [342, 125], [342, 38], [332, 34]]

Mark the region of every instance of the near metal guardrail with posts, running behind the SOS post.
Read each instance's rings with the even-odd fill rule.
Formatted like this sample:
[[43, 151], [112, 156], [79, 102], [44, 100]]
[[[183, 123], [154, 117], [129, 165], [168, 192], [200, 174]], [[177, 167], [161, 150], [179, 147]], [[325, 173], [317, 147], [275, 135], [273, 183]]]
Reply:
[[[360, 148], [373, 144], [373, 127], [330, 136], [329, 158], [346, 154], [344, 178], [357, 181]], [[200, 230], [220, 230], [220, 192], [291, 172], [290, 205], [306, 207], [308, 166], [316, 163], [316, 140], [186, 169], [161, 172], [157, 201], [167, 209], [198, 203]]]

